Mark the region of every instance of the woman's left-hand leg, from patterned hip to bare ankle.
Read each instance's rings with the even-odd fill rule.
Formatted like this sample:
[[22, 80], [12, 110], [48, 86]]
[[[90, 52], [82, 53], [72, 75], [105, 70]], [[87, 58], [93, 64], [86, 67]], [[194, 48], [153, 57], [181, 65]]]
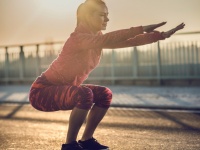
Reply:
[[78, 131], [93, 104], [93, 92], [84, 86], [52, 85], [44, 76], [33, 83], [29, 99], [41, 111], [72, 110], [66, 143], [76, 140]]

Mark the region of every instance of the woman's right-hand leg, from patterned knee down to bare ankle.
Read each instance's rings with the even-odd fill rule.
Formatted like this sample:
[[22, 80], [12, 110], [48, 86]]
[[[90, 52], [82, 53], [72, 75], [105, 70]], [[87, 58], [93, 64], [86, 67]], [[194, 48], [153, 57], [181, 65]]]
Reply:
[[89, 112], [81, 141], [85, 141], [93, 137], [94, 131], [105, 116], [112, 100], [112, 91], [107, 87], [94, 85], [85, 86], [92, 90], [95, 105]]

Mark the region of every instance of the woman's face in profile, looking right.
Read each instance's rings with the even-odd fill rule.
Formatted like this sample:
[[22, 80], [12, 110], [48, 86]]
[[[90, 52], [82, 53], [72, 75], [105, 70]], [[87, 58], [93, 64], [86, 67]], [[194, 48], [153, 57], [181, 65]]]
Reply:
[[89, 26], [94, 33], [105, 30], [107, 26], [108, 9], [104, 5], [96, 6], [96, 11], [89, 17]]

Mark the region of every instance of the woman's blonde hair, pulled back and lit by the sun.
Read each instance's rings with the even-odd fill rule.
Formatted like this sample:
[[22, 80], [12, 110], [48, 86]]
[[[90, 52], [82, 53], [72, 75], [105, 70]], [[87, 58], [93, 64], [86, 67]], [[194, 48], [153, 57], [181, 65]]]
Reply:
[[77, 25], [79, 25], [81, 21], [85, 22], [86, 16], [91, 15], [96, 10], [96, 6], [99, 5], [107, 7], [103, 0], [86, 0], [84, 3], [80, 4], [77, 9]]

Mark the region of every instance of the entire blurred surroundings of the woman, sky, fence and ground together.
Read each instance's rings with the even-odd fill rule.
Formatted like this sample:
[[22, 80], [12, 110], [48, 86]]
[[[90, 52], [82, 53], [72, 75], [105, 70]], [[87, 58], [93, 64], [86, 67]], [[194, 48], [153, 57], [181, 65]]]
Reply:
[[[200, 0], [105, 1], [104, 33], [163, 21], [159, 31], [186, 26], [164, 41], [103, 51], [85, 82], [113, 91], [97, 139], [115, 150], [200, 149]], [[74, 31], [82, 2], [0, 0], [0, 149], [58, 149], [64, 142], [70, 111], [35, 110], [29, 90]]]

